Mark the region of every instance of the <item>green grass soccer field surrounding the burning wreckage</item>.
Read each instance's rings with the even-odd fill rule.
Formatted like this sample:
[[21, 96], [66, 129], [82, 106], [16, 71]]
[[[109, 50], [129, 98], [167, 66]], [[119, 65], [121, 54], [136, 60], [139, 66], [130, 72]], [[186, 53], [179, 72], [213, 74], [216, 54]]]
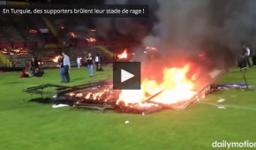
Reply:
[[[249, 84], [256, 84], [255, 74], [255, 68], [246, 73]], [[19, 72], [0, 73], [0, 149], [207, 150], [216, 149], [212, 147], [215, 141], [256, 142], [256, 94], [252, 90], [222, 90], [184, 110], [146, 116], [72, 107], [52, 109], [50, 104], [29, 101], [40, 95], [22, 92], [47, 83], [74, 86], [111, 76], [109, 70], [95, 72], [90, 78], [87, 69], [72, 68], [71, 83], [61, 84], [58, 70], [46, 70], [42, 78], [30, 79], [20, 79]], [[241, 76], [241, 72], [230, 72], [218, 83], [236, 83]], [[218, 103], [219, 99], [225, 101]]]

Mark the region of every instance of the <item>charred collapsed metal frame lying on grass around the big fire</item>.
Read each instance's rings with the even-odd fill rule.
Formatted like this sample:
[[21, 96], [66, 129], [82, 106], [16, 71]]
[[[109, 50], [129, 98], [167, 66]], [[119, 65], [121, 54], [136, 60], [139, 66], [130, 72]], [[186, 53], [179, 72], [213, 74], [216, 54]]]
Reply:
[[[188, 101], [180, 101], [175, 104], [162, 104], [162, 103], [155, 103], [154, 101], [150, 101], [155, 96], [157, 96], [160, 93], [157, 93], [153, 95], [151, 98], [149, 98], [147, 101], [144, 101], [142, 103], [148, 104], [147, 107], [143, 107], [142, 105], [138, 104], [125, 104], [125, 103], [118, 103], [115, 96], [112, 99], [109, 99], [107, 101], [103, 100], [104, 98], [100, 97], [100, 99], [91, 99], [87, 98], [85, 99], [84, 96], [82, 97], [76, 97], [72, 96], [70, 94], [87, 94], [91, 93], [93, 94], [95, 91], [99, 92], [97, 90], [101, 89], [101, 87], [112, 85], [112, 80], [104, 80], [94, 83], [87, 83], [83, 85], [78, 86], [59, 86], [59, 85], [52, 85], [52, 84], [46, 84], [41, 86], [34, 86], [29, 87], [23, 90], [23, 92], [29, 93], [29, 94], [41, 94], [42, 95], [51, 95], [52, 102], [59, 103], [66, 101], [74, 108], [78, 109], [98, 109], [98, 110], [105, 110], [105, 109], [115, 109], [117, 112], [126, 112], [126, 113], [153, 113], [156, 111], [160, 111], [162, 109], [185, 109], [189, 104], [191, 104], [194, 101], [198, 101], [201, 99], [205, 94], [207, 94], [207, 86], [205, 86], [202, 90], [198, 92], [195, 96], [192, 97], [191, 100]], [[45, 88], [55, 88], [54, 92], [47, 92], [43, 91]], [[95, 91], [94, 91], [95, 90]], [[54, 96], [52, 96], [54, 95]], [[115, 95], [115, 94], [114, 94]], [[112, 94], [110, 96], [113, 96]]]

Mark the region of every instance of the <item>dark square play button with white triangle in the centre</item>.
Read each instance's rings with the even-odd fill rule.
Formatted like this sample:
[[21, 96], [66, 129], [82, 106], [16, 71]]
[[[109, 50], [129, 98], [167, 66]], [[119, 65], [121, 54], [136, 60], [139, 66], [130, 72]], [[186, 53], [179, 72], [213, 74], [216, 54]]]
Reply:
[[140, 89], [140, 63], [113, 63], [114, 89]]

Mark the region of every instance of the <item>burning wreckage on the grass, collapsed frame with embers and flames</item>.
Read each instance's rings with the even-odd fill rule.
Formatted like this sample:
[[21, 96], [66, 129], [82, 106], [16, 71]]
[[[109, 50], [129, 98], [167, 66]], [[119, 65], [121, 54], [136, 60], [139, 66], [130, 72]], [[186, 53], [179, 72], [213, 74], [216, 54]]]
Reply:
[[[188, 78], [189, 70], [189, 64], [182, 68], [165, 68], [162, 81], [145, 78], [140, 90], [113, 90], [112, 80], [104, 80], [79, 86], [47, 84], [26, 88], [24, 92], [41, 94], [41, 99], [32, 101], [47, 100], [79, 109], [115, 109], [125, 113], [178, 110], [185, 109], [193, 101], [199, 101], [210, 92], [209, 86], [201, 86], [200, 90], [196, 90], [196, 74]], [[214, 76], [220, 73], [221, 71], [212, 72]], [[43, 99], [43, 95], [48, 95], [48, 98]]]

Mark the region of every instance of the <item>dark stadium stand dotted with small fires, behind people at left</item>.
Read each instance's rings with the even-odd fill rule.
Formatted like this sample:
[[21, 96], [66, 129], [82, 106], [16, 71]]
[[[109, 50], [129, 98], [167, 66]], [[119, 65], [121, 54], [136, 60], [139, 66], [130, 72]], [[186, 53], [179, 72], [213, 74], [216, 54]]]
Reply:
[[[113, 59], [111, 54], [117, 54], [127, 44], [127, 41], [120, 40], [88, 41], [87, 38], [97, 39], [98, 35], [96, 30], [88, 27], [87, 20], [49, 19], [49, 21], [50, 26], [54, 27], [57, 36], [63, 42], [63, 47], [58, 47], [56, 35], [51, 31], [49, 34], [40, 32], [40, 29], [48, 28], [41, 18], [13, 16], [0, 19], [0, 54], [2, 55], [0, 70], [1, 67], [25, 67], [32, 56], [40, 57], [45, 68], [56, 67], [52, 59], [61, 49], [69, 50], [73, 66], [76, 65], [77, 56], [85, 58], [88, 52], [93, 56], [99, 54], [104, 58], [104, 63], [110, 63]], [[71, 33], [77, 36], [72, 36]]]

